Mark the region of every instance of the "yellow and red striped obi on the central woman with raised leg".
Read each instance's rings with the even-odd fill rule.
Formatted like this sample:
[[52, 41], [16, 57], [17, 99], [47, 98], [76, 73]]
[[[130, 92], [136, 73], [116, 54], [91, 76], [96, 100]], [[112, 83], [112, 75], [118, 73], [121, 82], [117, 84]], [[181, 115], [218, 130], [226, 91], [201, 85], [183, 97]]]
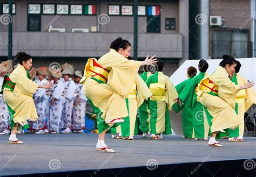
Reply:
[[110, 69], [100, 66], [96, 59], [88, 59], [85, 68], [85, 77], [90, 77], [98, 83], [107, 83], [107, 77], [109, 77]]

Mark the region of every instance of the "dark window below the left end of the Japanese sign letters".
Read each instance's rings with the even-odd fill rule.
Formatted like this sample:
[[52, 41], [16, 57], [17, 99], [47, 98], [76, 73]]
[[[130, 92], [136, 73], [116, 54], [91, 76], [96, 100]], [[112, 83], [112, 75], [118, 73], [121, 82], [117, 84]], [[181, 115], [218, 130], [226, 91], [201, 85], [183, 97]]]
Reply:
[[28, 14], [28, 31], [41, 31], [40, 14]]

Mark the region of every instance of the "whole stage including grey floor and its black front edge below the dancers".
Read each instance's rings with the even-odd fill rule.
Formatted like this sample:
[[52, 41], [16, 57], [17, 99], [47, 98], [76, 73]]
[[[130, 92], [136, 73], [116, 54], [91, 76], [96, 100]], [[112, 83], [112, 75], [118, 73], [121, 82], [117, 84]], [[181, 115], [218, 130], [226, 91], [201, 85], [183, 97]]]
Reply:
[[[256, 137], [244, 137], [244, 143], [224, 139], [220, 140], [224, 147], [209, 147], [207, 141], [184, 139], [181, 136], [164, 136], [163, 140], [135, 136], [135, 140], [120, 140], [111, 139], [111, 135], [107, 134], [105, 142], [116, 153], [106, 153], [96, 151], [97, 136], [77, 133], [18, 134], [17, 138], [24, 144], [9, 144], [9, 136], [1, 135], [0, 176], [44, 176], [45, 173], [49, 173], [46, 176], [52, 173], [65, 176], [58, 172], [66, 172], [69, 176], [80, 176], [79, 173], [126, 176], [131, 172], [137, 175], [130, 176], [150, 176], [154, 173], [169, 176], [172, 172], [179, 176], [207, 173], [207, 176], [222, 176], [227, 170], [233, 170], [233, 174], [228, 176], [256, 175]], [[220, 161], [224, 164], [221, 165]], [[226, 167], [232, 163], [235, 164], [233, 168]]]

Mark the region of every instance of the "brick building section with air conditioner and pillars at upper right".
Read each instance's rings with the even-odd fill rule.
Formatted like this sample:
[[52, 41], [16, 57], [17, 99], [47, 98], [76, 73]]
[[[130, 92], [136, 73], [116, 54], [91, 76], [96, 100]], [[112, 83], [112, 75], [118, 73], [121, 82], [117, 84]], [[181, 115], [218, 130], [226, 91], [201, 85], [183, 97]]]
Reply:
[[190, 59], [253, 57], [254, 22], [255, 0], [191, 0]]

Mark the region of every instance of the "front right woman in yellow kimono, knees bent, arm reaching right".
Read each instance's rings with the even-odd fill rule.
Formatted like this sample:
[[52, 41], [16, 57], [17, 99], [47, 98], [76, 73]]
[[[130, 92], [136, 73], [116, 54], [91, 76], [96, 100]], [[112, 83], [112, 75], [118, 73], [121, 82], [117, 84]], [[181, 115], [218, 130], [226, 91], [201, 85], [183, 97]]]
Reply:
[[217, 133], [225, 132], [224, 130], [228, 128], [234, 129], [242, 123], [234, 110], [235, 96], [239, 90], [253, 87], [254, 83], [248, 82], [244, 86], [235, 85], [228, 74], [234, 72], [236, 65], [232, 56], [223, 55], [223, 60], [217, 70], [199, 83], [197, 95], [200, 96], [200, 102], [212, 116], [212, 119], [208, 120], [211, 130], [209, 146], [222, 147], [215, 139]]

